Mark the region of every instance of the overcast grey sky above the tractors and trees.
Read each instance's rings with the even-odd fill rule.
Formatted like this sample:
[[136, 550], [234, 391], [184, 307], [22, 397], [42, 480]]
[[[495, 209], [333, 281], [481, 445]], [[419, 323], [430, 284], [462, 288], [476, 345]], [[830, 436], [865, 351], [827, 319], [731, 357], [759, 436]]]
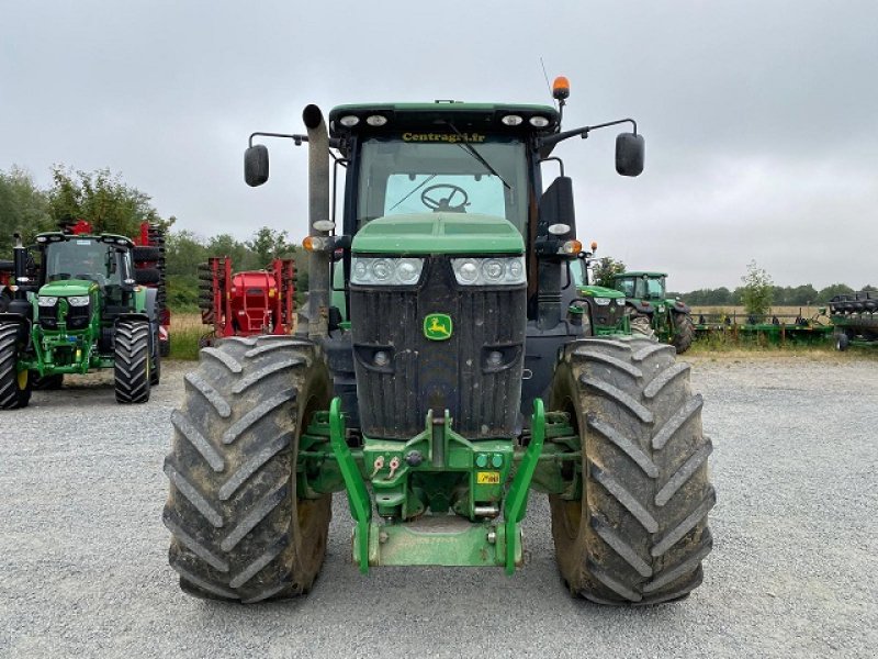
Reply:
[[[311, 11], [306, 9], [311, 7]], [[676, 290], [878, 283], [878, 2], [79, 0], [3, 2], [0, 169], [109, 167], [176, 228], [301, 239], [306, 152], [274, 142], [272, 180], [243, 181], [254, 131], [303, 132], [302, 108], [550, 101], [565, 129], [624, 116], [555, 149], [578, 235]]]

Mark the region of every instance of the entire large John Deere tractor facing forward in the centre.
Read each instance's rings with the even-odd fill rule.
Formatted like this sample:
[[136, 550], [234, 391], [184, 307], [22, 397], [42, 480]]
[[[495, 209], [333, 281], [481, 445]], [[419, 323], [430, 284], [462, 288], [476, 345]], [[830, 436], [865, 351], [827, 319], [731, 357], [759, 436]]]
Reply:
[[[555, 145], [621, 123], [633, 132], [616, 168], [639, 175], [634, 122], [561, 131], [552, 107], [462, 102], [341, 105], [328, 130], [308, 105], [303, 120], [307, 135], [288, 137], [309, 153], [307, 322], [204, 348], [185, 377], [164, 513], [182, 589], [245, 603], [307, 592], [337, 492], [363, 573], [513, 574], [533, 490], [549, 495], [572, 593], [686, 596], [711, 548], [701, 398], [673, 347], [592, 335], [596, 306], [570, 284], [573, 186], [543, 188]], [[269, 174], [258, 135], [250, 186]]]

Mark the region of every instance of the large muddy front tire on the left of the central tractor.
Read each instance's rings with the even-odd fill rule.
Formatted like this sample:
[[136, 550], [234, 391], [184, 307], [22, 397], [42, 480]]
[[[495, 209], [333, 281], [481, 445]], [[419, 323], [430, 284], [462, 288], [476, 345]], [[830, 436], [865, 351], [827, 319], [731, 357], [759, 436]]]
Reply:
[[290, 337], [232, 337], [201, 351], [175, 411], [162, 520], [180, 588], [261, 602], [311, 590], [323, 565], [331, 494], [299, 499], [299, 438], [327, 410], [317, 348]]

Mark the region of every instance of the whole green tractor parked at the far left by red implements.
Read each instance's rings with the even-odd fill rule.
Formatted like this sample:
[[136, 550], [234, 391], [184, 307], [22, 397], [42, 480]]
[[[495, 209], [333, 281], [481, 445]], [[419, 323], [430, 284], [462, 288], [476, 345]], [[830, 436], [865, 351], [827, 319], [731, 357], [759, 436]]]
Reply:
[[[120, 403], [144, 403], [158, 384], [155, 272], [135, 270], [134, 243], [113, 234], [16, 235], [14, 283], [0, 313], [0, 410], [24, 407], [31, 391], [58, 389], [67, 373], [112, 368]], [[38, 263], [33, 258], [38, 256]]]

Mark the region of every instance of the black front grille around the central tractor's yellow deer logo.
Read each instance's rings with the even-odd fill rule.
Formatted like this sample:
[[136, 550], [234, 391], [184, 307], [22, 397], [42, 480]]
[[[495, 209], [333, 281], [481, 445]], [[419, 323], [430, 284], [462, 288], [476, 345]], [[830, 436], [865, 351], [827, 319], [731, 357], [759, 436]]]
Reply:
[[[449, 339], [425, 337], [424, 319], [430, 313], [451, 316]], [[372, 437], [409, 438], [424, 431], [428, 410], [435, 415], [449, 410], [453, 428], [466, 437], [514, 435], [525, 313], [525, 286], [461, 287], [447, 258], [428, 259], [418, 287], [352, 287], [362, 431]], [[382, 351], [386, 365], [375, 358]]]

